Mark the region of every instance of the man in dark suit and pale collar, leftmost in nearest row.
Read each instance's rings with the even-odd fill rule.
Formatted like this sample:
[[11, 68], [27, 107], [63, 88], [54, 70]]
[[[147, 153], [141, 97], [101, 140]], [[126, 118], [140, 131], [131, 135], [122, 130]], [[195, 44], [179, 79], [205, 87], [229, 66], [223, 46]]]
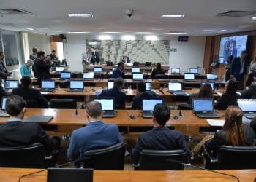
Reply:
[[18, 95], [7, 98], [6, 111], [10, 119], [0, 125], [0, 147], [29, 146], [38, 142], [49, 152], [59, 148], [59, 138], [50, 138], [39, 124], [22, 122], [26, 111], [23, 98]]

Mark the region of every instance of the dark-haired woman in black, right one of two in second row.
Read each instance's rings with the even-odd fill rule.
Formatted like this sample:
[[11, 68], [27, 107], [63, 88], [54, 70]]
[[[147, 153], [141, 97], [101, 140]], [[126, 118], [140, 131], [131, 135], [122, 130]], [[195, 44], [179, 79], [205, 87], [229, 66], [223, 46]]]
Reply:
[[238, 84], [236, 81], [230, 79], [225, 84], [225, 93], [217, 101], [216, 108], [219, 110], [225, 110], [228, 106], [237, 106], [237, 100], [241, 98], [240, 95], [236, 93], [238, 89]]

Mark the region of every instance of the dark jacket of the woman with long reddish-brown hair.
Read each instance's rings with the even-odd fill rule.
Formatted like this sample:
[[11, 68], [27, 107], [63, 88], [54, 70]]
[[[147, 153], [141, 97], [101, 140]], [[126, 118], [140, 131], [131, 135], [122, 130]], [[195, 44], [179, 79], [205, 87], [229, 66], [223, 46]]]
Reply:
[[[252, 127], [248, 125], [243, 125], [242, 127], [244, 130], [246, 146], [253, 146], [255, 132], [252, 130]], [[222, 145], [230, 146], [231, 144], [225, 141], [225, 137], [226, 137], [226, 133], [223, 132], [222, 130], [215, 133], [214, 138], [211, 138], [211, 140], [206, 141], [205, 143], [206, 150], [208, 152], [213, 151], [212, 153], [216, 155], [220, 146]]]

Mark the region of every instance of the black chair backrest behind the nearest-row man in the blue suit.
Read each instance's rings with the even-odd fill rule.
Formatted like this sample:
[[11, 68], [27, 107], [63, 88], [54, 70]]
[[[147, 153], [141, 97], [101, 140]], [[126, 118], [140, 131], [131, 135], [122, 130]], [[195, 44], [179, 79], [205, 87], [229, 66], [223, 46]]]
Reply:
[[126, 143], [117, 143], [103, 149], [86, 151], [83, 157], [89, 159], [83, 161], [83, 167], [94, 170], [124, 170], [125, 147]]

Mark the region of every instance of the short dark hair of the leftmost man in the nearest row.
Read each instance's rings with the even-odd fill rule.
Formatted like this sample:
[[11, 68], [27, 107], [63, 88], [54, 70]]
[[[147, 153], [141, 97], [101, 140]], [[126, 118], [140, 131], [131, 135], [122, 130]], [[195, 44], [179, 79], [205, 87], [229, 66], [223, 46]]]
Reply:
[[18, 116], [25, 107], [26, 102], [20, 96], [11, 95], [7, 98], [5, 109], [10, 116]]

